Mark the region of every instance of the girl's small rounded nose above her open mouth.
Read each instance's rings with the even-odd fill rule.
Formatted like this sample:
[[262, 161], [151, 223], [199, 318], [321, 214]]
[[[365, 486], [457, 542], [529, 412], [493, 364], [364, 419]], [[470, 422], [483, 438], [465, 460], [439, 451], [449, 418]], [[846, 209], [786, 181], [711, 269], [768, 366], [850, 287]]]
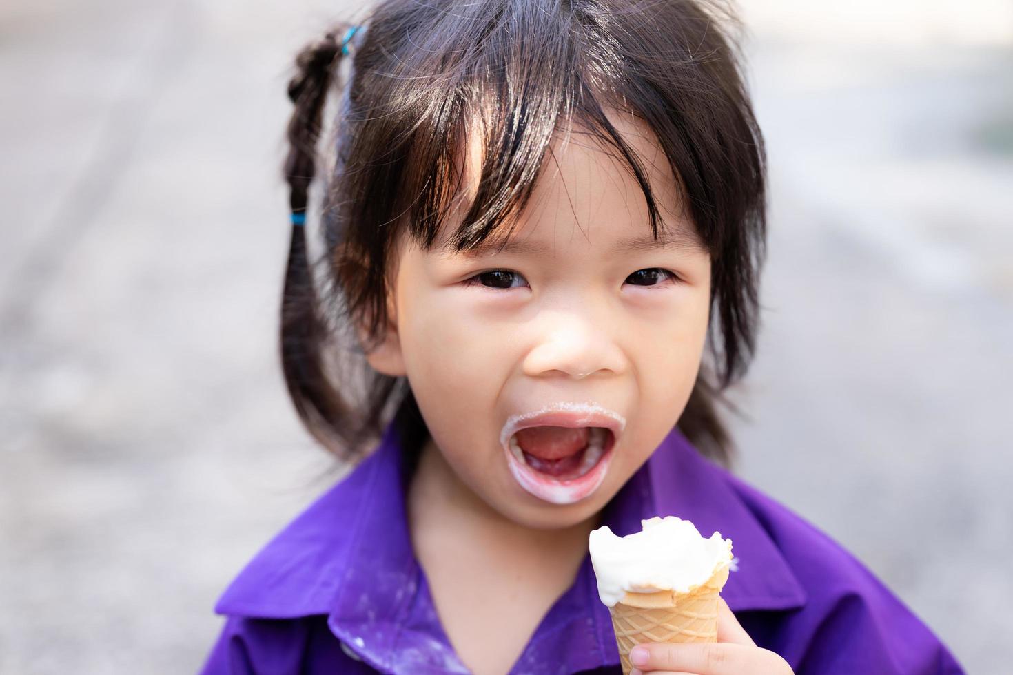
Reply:
[[558, 315], [524, 359], [524, 373], [541, 377], [560, 372], [575, 379], [627, 369], [623, 350], [607, 326], [573, 314]]

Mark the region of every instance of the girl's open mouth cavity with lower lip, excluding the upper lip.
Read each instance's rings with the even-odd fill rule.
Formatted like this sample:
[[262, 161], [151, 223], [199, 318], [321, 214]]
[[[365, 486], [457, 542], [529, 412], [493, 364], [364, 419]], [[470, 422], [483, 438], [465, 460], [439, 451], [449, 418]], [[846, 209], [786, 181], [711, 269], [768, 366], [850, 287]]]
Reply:
[[521, 487], [547, 502], [571, 504], [605, 480], [615, 440], [604, 427], [534, 426], [511, 435], [505, 449]]

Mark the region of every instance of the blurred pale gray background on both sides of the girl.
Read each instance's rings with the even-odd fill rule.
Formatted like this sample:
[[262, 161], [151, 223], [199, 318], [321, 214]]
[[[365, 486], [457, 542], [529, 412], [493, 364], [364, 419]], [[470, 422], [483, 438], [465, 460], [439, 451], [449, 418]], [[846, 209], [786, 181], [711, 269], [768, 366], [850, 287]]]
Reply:
[[[334, 480], [276, 358], [296, 50], [355, 3], [0, 7], [0, 672], [188, 673]], [[1013, 662], [1013, 4], [746, 0], [741, 474]]]

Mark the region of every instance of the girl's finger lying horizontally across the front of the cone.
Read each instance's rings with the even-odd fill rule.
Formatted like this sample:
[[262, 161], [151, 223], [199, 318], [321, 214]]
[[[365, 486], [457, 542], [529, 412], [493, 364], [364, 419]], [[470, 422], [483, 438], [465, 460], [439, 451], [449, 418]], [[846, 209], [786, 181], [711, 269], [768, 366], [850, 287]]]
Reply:
[[[646, 652], [646, 659], [639, 654]], [[670, 645], [645, 643], [630, 650], [630, 661], [643, 672], [675, 671], [695, 675], [731, 675], [758, 672], [755, 647], [727, 643]]]

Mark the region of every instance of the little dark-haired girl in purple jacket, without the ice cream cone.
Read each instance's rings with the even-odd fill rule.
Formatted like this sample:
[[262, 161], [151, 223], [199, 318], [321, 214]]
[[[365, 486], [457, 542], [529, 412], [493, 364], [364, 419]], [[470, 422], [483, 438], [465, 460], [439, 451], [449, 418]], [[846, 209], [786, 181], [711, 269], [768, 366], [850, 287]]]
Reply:
[[205, 673], [619, 673], [588, 535], [655, 515], [737, 566], [718, 642], [642, 645], [635, 672], [961, 672], [726, 469], [766, 228], [734, 25], [702, 0], [386, 0], [299, 54], [282, 360], [358, 466], [219, 600]]

